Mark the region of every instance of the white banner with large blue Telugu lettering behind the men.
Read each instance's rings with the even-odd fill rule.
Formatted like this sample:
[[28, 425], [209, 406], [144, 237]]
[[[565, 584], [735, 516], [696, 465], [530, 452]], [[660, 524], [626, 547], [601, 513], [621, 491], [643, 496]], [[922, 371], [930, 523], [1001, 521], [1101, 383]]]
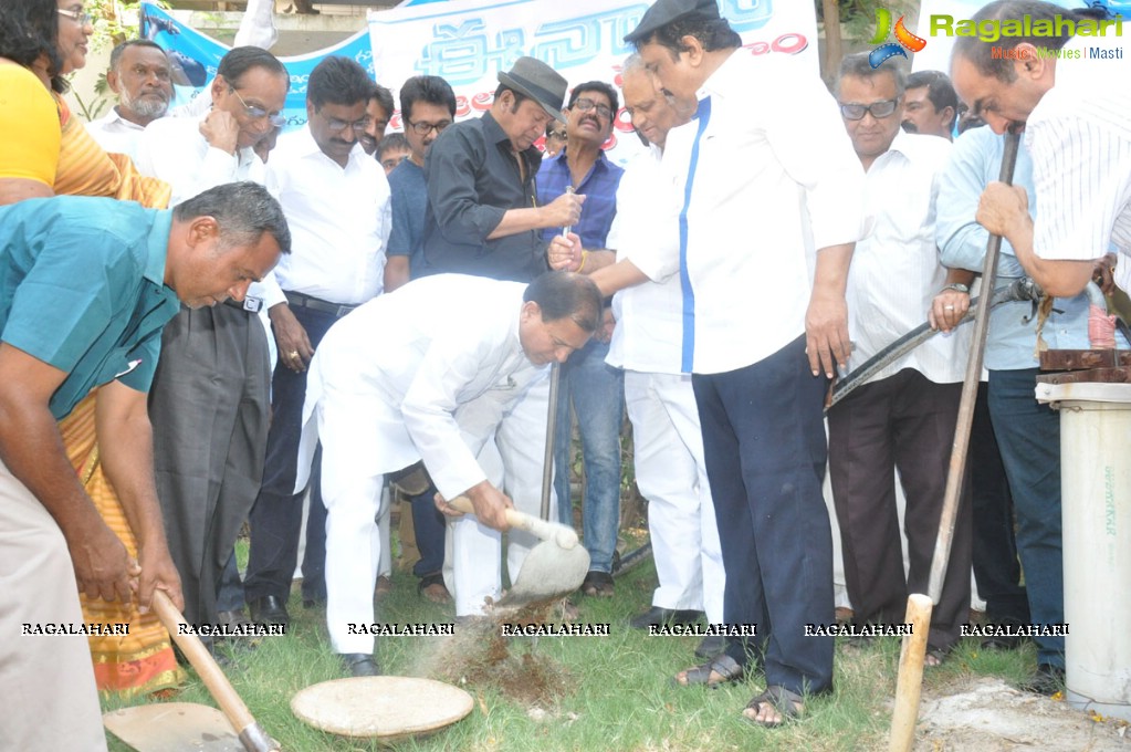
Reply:
[[[621, 63], [633, 51], [622, 41], [650, 6], [640, 0], [452, 0], [404, 3], [370, 11], [377, 80], [397, 93], [412, 76], [440, 76], [456, 92], [456, 119], [491, 109], [499, 71], [530, 55], [570, 86], [601, 80], [620, 89]], [[811, 2], [722, 0], [719, 10], [742, 36], [746, 53], [797, 55], [818, 74], [817, 18]], [[623, 104], [623, 102], [621, 103]], [[399, 113], [391, 129], [402, 128]], [[538, 141], [541, 146], [542, 141]], [[623, 107], [605, 145], [624, 163], [640, 141]]]

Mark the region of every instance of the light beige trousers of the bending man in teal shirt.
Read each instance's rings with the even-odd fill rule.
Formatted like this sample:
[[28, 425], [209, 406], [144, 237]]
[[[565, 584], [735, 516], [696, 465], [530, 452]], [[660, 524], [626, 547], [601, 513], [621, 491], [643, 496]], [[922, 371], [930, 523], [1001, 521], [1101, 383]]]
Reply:
[[0, 463], [0, 747], [106, 749], [81, 625], [63, 534]]

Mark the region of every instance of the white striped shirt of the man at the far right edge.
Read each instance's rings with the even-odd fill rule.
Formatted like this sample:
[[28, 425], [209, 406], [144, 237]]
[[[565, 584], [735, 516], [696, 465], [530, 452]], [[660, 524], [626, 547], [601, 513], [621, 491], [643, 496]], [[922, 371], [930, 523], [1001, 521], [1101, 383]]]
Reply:
[[[1039, 207], [1033, 249], [1091, 260], [1114, 244], [1115, 282], [1131, 289], [1131, 50], [1121, 38], [1080, 36], [1064, 50], [1080, 57], [1057, 60], [1056, 83], [1025, 128]], [[1122, 59], [1094, 57], [1102, 50]]]

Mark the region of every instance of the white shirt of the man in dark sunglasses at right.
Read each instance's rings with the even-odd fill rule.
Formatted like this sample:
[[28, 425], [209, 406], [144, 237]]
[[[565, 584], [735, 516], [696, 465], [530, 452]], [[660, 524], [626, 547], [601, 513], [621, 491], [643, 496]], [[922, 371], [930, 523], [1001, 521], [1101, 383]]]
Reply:
[[[848, 269], [848, 336], [855, 344], [848, 372], [926, 321], [946, 284], [934, 217], [938, 176], [950, 149], [944, 138], [900, 130], [867, 170], [866, 210], [874, 224], [856, 243]], [[869, 381], [908, 368], [935, 383], [961, 381], [968, 344], [969, 327], [935, 335]]]

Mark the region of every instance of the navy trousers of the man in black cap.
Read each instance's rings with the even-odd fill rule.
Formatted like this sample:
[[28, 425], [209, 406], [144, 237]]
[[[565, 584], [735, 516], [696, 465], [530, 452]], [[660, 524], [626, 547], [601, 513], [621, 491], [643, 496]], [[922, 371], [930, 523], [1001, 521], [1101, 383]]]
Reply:
[[813, 377], [801, 337], [736, 371], [694, 374], [703, 456], [723, 565], [723, 616], [757, 624], [729, 638], [740, 664], [761, 659], [768, 684], [819, 693], [832, 685], [832, 535], [821, 493], [828, 381]]

